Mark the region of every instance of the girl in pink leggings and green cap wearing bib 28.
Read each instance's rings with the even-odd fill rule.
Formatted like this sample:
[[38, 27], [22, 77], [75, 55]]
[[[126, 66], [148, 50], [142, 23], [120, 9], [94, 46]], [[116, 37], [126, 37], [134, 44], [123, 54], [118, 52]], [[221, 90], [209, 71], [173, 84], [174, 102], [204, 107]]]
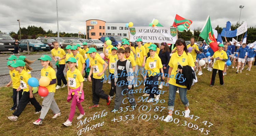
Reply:
[[85, 115], [84, 109], [81, 105], [81, 102], [84, 101], [84, 90], [83, 90], [83, 76], [79, 70], [76, 69], [76, 59], [69, 58], [67, 62], [70, 70], [67, 72], [67, 80], [68, 80], [68, 97], [67, 101], [71, 101], [69, 118], [66, 122], [63, 123], [65, 126], [71, 126], [73, 117], [75, 115], [75, 106], [79, 109], [80, 115], [76, 118], [80, 120]]

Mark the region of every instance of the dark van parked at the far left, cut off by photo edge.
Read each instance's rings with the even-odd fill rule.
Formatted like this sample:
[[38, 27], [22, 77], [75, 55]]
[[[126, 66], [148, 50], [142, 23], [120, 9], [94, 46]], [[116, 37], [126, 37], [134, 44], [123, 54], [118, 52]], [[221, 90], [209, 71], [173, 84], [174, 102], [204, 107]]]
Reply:
[[15, 40], [6, 33], [0, 33], [0, 52], [1, 51], [14, 51]]

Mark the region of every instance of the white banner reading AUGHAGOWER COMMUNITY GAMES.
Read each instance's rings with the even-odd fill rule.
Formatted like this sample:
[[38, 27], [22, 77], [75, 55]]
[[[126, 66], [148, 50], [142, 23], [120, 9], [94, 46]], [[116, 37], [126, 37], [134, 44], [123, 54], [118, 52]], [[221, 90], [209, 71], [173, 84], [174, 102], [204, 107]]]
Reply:
[[175, 44], [177, 29], [171, 27], [131, 27], [129, 28], [131, 42], [140, 38], [143, 42]]

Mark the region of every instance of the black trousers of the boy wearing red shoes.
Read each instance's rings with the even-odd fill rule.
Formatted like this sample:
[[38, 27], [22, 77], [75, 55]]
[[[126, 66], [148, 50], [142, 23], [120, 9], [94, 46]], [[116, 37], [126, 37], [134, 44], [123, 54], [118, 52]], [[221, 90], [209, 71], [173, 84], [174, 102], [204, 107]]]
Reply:
[[93, 74], [91, 74], [91, 81], [92, 83], [92, 92], [93, 92], [93, 104], [99, 104], [100, 98], [101, 99], [108, 99], [109, 95], [105, 94], [102, 90], [103, 86], [103, 79], [95, 79], [93, 78]]

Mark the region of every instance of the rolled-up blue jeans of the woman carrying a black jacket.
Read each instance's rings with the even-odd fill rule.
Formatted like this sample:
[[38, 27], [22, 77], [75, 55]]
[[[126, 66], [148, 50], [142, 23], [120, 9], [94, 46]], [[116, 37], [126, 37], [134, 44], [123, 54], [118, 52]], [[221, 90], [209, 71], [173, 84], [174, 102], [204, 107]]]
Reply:
[[184, 104], [185, 107], [189, 106], [187, 96], [186, 96], [187, 88], [177, 87], [177, 86], [170, 84], [169, 85], [168, 110], [174, 110], [174, 101], [175, 101], [175, 95], [176, 95], [177, 88], [179, 88], [181, 102]]

